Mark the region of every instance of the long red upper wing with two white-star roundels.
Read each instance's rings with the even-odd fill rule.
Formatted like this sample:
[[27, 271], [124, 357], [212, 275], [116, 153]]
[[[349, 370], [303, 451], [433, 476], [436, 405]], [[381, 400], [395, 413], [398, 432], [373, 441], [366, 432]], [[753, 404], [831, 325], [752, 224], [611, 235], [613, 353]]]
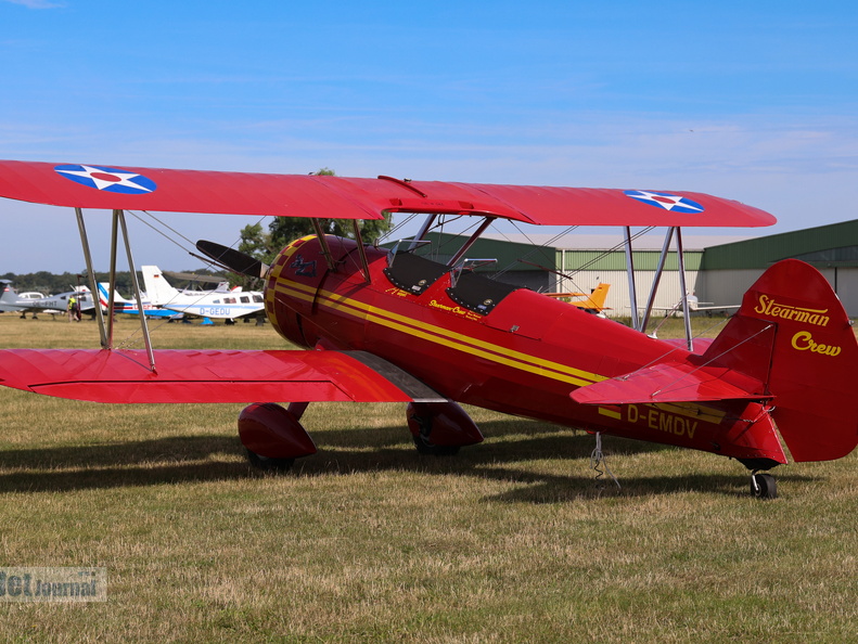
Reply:
[[694, 192], [491, 185], [0, 162], [0, 196], [80, 208], [381, 219], [488, 215], [543, 226], [758, 227], [774, 217]]

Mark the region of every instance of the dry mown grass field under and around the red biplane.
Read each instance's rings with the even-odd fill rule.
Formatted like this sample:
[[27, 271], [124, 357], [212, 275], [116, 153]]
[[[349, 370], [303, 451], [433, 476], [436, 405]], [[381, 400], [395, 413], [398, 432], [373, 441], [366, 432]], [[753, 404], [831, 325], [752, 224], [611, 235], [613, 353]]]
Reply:
[[[161, 348], [281, 348], [270, 325], [161, 324]], [[117, 337], [136, 329], [124, 320]], [[1, 347], [97, 347], [0, 315]], [[251, 471], [242, 405], [0, 388], [3, 566], [103, 566], [107, 602], [2, 604], [11, 642], [856, 642], [858, 464], [776, 471], [481, 410], [419, 456], [401, 405], [315, 404], [319, 453]], [[822, 428], [819, 428], [822, 429]]]

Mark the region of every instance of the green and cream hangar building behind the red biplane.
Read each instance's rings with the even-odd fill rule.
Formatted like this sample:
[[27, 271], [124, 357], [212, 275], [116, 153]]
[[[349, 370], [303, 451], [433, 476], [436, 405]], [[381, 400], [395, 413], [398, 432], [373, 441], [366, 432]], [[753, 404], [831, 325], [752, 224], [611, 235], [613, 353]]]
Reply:
[[[631, 260], [638, 306], [656, 273], [665, 229], [632, 237]], [[795, 258], [816, 267], [831, 283], [850, 317], [858, 317], [858, 220], [755, 239], [682, 234], [686, 286], [701, 302], [739, 305], [745, 291], [772, 263]], [[430, 233], [418, 253], [447, 261], [465, 237]], [[654, 307], [669, 310], [680, 301], [676, 243], [668, 253]], [[489, 234], [469, 249], [476, 270], [502, 282], [541, 293], [588, 293], [611, 285], [605, 306], [612, 315], [630, 312], [630, 284], [622, 231], [552, 237], [548, 234]], [[483, 260], [495, 260], [490, 263]], [[482, 265], [482, 266], [481, 266]]]

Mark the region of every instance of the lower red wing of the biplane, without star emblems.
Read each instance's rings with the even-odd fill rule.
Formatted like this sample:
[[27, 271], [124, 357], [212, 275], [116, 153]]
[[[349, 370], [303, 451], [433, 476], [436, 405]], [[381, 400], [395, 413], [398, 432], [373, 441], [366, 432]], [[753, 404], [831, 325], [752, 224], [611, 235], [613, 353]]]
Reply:
[[95, 402], [446, 400], [362, 351], [4, 349], [0, 385]]

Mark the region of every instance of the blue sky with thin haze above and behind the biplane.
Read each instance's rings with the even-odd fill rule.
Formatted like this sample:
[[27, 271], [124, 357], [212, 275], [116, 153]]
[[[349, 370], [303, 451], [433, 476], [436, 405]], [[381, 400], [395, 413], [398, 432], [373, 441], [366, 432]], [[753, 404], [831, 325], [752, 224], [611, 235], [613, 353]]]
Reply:
[[[796, 230], [858, 217], [857, 7], [0, 0], [0, 158], [689, 190]], [[84, 267], [71, 212], [0, 217], [0, 273]], [[137, 263], [200, 266], [129, 223]]]

